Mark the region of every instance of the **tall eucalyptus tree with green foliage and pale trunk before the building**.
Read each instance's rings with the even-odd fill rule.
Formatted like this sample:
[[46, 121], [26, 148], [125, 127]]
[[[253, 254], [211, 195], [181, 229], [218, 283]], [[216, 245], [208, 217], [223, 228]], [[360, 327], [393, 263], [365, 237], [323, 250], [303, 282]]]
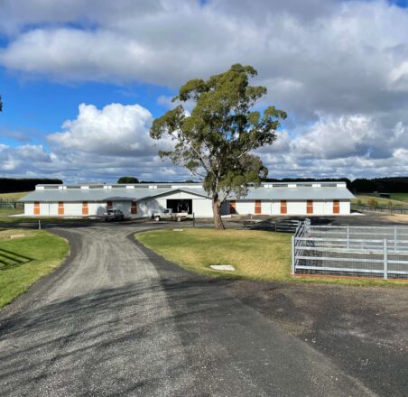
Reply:
[[194, 78], [184, 84], [173, 101], [195, 103], [189, 114], [175, 106], [153, 121], [153, 139], [172, 138], [173, 146], [161, 151], [175, 164], [186, 167], [203, 180], [212, 197], [214, 223], [223, 228], [220, 207], [230, 194], [243, 197], [249, 183], [259, 186], [267, 169], [255, 149], [274, 143], [276, 129], [286, 118], [283, 110], [267, 106], [253, 110], [266, 88], [249, 85], [252, 66], [236, 64], [207, 81]]

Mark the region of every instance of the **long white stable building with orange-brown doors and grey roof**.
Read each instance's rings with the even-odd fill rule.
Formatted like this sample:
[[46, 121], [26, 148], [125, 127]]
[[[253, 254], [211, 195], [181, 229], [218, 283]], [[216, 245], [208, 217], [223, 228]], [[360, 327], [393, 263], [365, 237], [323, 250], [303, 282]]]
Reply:
[[[343, 182], [268, 182], [244, 198], [228, 197], [222, 215], [348, 215], [354, 196]], [[151, 217], [172, 208], [212, 217], [211, 198], [199, 183], [37, 185], [23, 199], [24, 214], [35, 217], [95, 217], [107, 208], [126, 217]]]

